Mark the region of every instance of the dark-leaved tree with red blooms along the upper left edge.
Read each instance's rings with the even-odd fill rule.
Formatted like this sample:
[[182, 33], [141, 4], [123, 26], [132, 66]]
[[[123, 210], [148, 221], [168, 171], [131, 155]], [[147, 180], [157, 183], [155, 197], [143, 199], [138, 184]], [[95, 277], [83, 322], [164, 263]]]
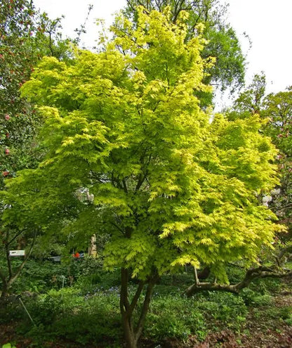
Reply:
[[34, 51], [34, 8], [29, 1], [2, 1], [0, 8], [1, 181], [27, 165], [36, 117], [20, 98], [20, 86], [38, 60]]

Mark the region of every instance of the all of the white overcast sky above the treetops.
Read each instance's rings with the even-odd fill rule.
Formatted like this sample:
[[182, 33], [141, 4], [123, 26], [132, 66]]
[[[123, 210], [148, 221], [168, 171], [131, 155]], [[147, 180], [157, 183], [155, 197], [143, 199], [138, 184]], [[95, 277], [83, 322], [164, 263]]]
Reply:
[[[292, 0], [220, 0], [229, 2], [228, 21], [241, 39], [247, 55], [246, 84], [255, 73], [264, 71], [267, 76], [267, 91], [283, 91], [292, 85]], [[34, 0], [37, 8], [46, 11], [50, 18], [65, 15], [62, 21], [65, 34], [74, 34], [74, 29], [84, 23], [88, 4], [93, 4], [87, 34], [81, 41], [94, 46], [98, 39], [95, 18], [103, 18], [110, 25], [112, 13], [125, 6], [126, 0]], [[248, 51], [246, 32], [252, 41]]]

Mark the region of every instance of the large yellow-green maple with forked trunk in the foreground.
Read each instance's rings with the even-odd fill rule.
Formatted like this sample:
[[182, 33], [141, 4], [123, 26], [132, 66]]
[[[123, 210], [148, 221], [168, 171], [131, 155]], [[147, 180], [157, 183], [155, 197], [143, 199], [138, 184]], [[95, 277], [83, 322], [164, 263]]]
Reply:
[[2, 195], [6, 224], [110, 234], [105, 266], [121, 269], [128, 347], [137, 347], [159, 276], [204, 264], [227, 282], [225, 264], [257, 262], [280, 228], [255, 195], [277, 183], [260, 118], [210, 123], [195, 94], [211, 91], [202, 82], [211, 66], [201, 35], [187, 37], [188, 13], [173, 23], [169, 8], [138, 11], [134, 23], [116, 19], [104, 51], [79, 51], [70, 64], [44, 58], [34, 70], [22, 94], [46, 120], [46, 156]]

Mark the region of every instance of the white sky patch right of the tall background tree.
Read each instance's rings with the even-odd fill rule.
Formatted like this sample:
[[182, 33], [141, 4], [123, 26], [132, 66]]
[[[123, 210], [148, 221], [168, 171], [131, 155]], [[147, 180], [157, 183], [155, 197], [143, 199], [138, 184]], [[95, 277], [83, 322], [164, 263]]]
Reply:
[[[252, 41], [247, 79], [263, 70], [268, 91], [292, 85], [292, 0], [229, 0], [229, 20]], [[245, 40], [246, 41], [246, 40]]]

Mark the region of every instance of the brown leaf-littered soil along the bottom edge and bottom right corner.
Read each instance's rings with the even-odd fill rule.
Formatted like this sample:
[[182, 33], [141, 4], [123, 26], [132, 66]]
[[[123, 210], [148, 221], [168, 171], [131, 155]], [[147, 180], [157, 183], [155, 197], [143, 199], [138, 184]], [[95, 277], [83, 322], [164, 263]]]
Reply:
[[[144, 341], [141, 347], [147, 348], [290, 348], [292, 347], [292, 292], [284, 291], [273, 299], [270, 306], [251, 307], [246, 325], [241, 333], [232, 330], [222, 330], [211, 333], [204, 342], [190, 337], [184, 344], [175, 338], [168, 338], [163, 342]], [[17, 348], [36, 347], [29, 338], [21, 337], [15, 331], [17, 322], [0, 325], [0, 344], [6, 342], [16, 343]], [[108, 347], [110, 342], [105, 342], [103, 347]], [[39, 344], [37, 345], [39, 347]], [[43, 342], [41, 348], [80, 348], [80, 343], [69, 340], [57, 342]], [[102, 346], [86, 345], [87, 348], [103, 348]]]

